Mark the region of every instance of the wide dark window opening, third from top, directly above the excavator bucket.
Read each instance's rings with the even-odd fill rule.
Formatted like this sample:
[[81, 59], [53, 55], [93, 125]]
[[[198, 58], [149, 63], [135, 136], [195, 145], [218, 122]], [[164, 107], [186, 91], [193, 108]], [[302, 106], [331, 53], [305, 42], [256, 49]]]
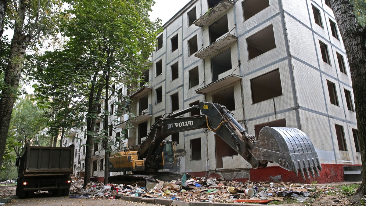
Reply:
[[250, 80], [253, 104], [282, 95], [280, 70]]

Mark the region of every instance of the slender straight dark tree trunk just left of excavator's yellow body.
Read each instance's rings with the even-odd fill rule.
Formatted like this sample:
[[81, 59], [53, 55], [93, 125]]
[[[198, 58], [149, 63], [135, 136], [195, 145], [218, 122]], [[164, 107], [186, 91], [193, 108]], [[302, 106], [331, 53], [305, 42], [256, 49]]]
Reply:
[[[109, 90], [109, 75], [106, 76], [105, 78], [105, 100], [104, 100], [104, 136], [105, 136], [105, 140], [104, 140], [104, 184], [108, 184], [108, 179], [109, 179], [109, 148], [108, 148], [108, 117], [109, 115], [107, 114], [108, 112], [108, 104], [109, 104], [109, 94], [108, 94], [108, 90]], [[109, 128], [112, 129], [112, 128]]]

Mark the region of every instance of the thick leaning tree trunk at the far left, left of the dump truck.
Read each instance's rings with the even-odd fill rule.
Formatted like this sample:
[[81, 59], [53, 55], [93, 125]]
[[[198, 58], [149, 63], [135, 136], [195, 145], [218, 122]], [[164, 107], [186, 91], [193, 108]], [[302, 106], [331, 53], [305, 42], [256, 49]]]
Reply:
[[9, 60], [4, 76], [5, 89], [1, 91], [0, 99], [0, 165], [3, 162], [11, 114], [18, 94], [18, 85], [29, 38], [23, 36], [18, 29], [15, 29], [11, 41]]

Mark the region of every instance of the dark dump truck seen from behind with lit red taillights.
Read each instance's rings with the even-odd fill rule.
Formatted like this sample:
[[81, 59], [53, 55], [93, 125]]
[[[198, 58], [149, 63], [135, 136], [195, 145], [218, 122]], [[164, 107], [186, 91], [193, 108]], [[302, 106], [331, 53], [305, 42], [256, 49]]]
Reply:
[[15, 193], [19, 199], [32, 198], [37, 191], [67, 196], [74, 165], [74, 144], [69, 147], [27, 144], [15, 165], [19, 167]]

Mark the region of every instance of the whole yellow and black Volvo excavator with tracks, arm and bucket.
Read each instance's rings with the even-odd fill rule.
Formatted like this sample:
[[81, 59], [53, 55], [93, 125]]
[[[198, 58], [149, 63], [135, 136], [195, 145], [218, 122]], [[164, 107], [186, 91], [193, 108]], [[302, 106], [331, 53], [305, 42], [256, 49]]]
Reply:
[[[202, 115], [182, 117], [194, 110], [201, 110]], [[322, 167], [309, 137], [297, 128], [264, 127], [258, 139], [247, 134], [223, 105], [200, 102], [185, 110], [171, 113], [166, 118], [158, 119], [151, 127], [147, 138], [136, 151], [120, 151], [109, 158], [110, 172], [131, 172], [109, 177], [110, 183], [133, 184], [140, 186], [155, 183], [156, 179], [168, 181], [179, 179], [180, 174], [159, 172], [163, 169], [176, 168], [176, 144], [165, 140], [174, 133], [209, 129], [221, 137], [254, 169], [265, 168], [268, 162], [276, 162], [281, 168], [300, 174], [319, 176]]]

